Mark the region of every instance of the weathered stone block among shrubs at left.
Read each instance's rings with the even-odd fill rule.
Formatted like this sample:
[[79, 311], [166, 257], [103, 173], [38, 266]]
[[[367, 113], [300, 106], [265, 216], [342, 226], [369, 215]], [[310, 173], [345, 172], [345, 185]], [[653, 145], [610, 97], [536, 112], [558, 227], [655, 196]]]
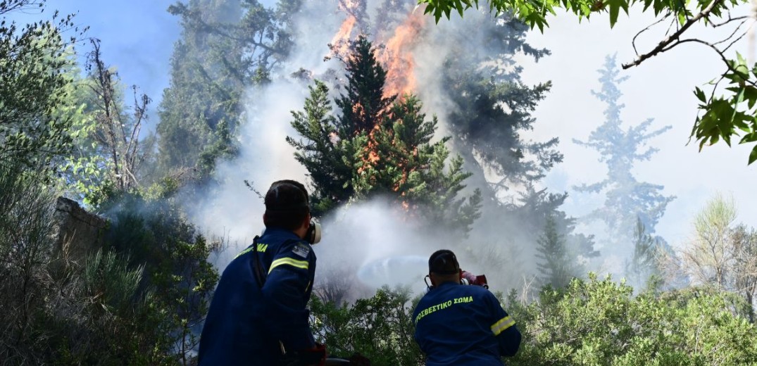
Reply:
[[87, 212], [79, 203], [58, 197], [55, 203], [55, 220], [58, 234], [55, 250], [69, 259], [83, 259], [104, 243], [107, 221]]

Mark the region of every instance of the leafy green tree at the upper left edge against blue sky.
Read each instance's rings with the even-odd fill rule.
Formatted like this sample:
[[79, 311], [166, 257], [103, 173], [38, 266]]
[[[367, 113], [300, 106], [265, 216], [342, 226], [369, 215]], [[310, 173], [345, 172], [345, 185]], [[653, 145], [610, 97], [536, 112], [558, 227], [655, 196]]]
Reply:
[[52, 158], [70, 149], [70, 119], [53, 112], [67, 100], [72, 64], [64, 52], [75, 39], [62, 33], [73, 28], [71, 15], [22, 27], [5, 17], [38, 5], [44, 2], [0, 2], [0, 164], [52, 171]]

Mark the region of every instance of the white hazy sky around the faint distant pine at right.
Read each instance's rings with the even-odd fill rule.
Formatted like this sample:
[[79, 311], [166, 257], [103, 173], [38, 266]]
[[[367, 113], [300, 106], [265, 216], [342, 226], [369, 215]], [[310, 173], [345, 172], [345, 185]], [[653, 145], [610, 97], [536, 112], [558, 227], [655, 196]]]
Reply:
[[[742, 12], [746, 12], [740, 9]], [[578, 23], [576, 17], [562, 14], [550, 19], [550, 28], [544, 34], [532, 32], [528, 41], [535, 47], [552, 51], [538, 64], [525, 65], [525, 82], [553, 81], [552, 92], [537, 107], [534, 135], [546, 138], [557, 135], [559, 150], [565, 154], [560, 164], [547, 177], [547, 186], [568, 191], [572, 198], [563, 206], [574, 215], [587, 212], [586, 200], [572, 191], [573, 185], [593, 183], [603, 179], [606, 167], [597, 161], [597, 152], [572, 142], [573, 138], [586, 141], [590, 132], [603, 122], [606, 104], [591, 95], [599, 90], [599, 70], [607, 54], [617, 53], [619, 63], [634, 60], [631, 40], [653, 18], [631, 12], [631, 18], [621, 14], [618, 24], [610, 30], [607, 17]], [[666, 26], [637, 42], [640, 53], [651, 50], [665, 33]], [[696, 34], [706, 34], [698, 32]], [[736, 45], [735, 51], [747, 54], [747, 42]], [[754, 59], [752, 57], [752, 59]], [[697, 152], [698, 144], [687, 145], [696, 117], [697, 100], [693, 88], [702, 86], [721, 73], [721, 60], [715, 52], [702, 45], [681, 45], [671, 51], [646, 60], [639, 67], [622, 70], [628, 80], [621, 84], [625, 109], [621, 119], [638, 124], [653, 118], [649, 131], [672, 126], [662, 135], [650, 140], [659, 152], [649, 162], [636, 164], [640, 181], [665, 185], [663, 194], [678, 198], [668, 204], [665, 216], [657, 225], [657, 233], [673, 245], [681, 244], [691, 231], [694, 213], [705, 205], [716, 192], [732, 194], [739, 206], [739, 219], [757, 226], [757, 163], [747, 166], [749, 146], [726, 144], [705, 147]], [[706, 89], [709, 90], [709, 89]]]

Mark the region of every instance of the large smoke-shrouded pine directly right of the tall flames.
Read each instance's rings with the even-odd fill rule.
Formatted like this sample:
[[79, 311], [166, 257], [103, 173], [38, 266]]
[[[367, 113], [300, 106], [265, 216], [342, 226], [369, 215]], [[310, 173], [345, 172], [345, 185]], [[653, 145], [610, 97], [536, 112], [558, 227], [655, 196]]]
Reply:
[[486, 20], [475, 26], [475, 32], [487, 37], [486, 50], [469, 49], [464, 33], [454, 35], [460, 37], [456, 42], [449, 42], [456, 48], [444, 67], [444, 85], [454, 104], [449, 128], [455, 150], [463, 154], [466, 167], [478, 180], [484, 178], [484, 172], [494, 173], [496, 178], [485, 181], [484, 196], [501, 201], [512, 186], [534, 183], [562, 162], [562, 153], [556, 150], [558, 138], [522, 138], [522, 132], [533, 129], [536, 121], [531, 113], [551, 83], [525, 85], [522, 67], [514, 56], [539, 60], [549, 51], [528, 45], [527, 28], [512, 18]]

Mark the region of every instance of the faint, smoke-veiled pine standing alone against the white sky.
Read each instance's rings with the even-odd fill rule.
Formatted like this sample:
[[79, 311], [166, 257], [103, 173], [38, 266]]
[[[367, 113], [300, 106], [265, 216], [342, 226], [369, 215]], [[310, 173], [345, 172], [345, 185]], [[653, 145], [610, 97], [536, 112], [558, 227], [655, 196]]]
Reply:
[[646, 141], [671, 127], [665, 126], [647, 132], [653, 123], [653, 119], [647, 119], [625, 131], [621, 129], [620, 113], [625, 105], [618, 103], [622, 95], [618, 85], [625, 81], [626, 77], [618, 77], [615, 56], [606, 57], [600, 75], [602, 90], [593, 94], [607, 104], [604, 111], [605, 122], [591, 132], [587, 141], [574, 142], [597, 150], [600, 154], [599, 160], [606, 163], [608, 176], [603, 181], [591, 185], [584, 184], [575, 189], [579, 192], [605, 194], [604, 206], [591, 212], [588, 219], [605, 222], [612, 237], [618, 240], [631, 237], [637, 218], [641, 220], [646, 231], [653, 234], [658, 220], [665, 212], [665, 206], [675, 197], [663, 196], [660, 193], [664, 188], [662, 185], [637, 181], [631, 169], [637, 161], [650, 160], [658, 150], [649, 147], [640, 151]]

